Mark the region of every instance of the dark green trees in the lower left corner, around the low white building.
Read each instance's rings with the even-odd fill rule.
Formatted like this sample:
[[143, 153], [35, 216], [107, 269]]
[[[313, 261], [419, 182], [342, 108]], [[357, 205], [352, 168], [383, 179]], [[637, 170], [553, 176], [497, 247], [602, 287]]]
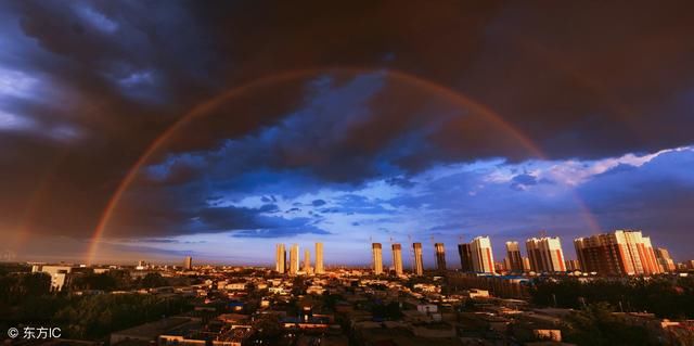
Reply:
[[[76, 275], [72, 289], [114, 291], [170, 284], [158, 273], [131, 279], [121, 271], [110, 271]], [[60, 326], [64, 337], [102, 339], [114, 331], [190, 310], [191, 299], [142, 294], [75, 296], [51, 292], [47, 273], [0, 270], [0, 330], [51, 325]]]

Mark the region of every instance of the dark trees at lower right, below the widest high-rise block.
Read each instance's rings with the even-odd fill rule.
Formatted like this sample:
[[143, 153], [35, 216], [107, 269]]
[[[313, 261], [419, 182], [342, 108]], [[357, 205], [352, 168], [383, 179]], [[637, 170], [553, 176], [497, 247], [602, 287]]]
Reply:
[[539, 281], [530, 287], [540, 306], [583, 309], [606, 303], [615, 311], [647, 311], [660, 318], [694, 318], [694, 278], [579, 279]]

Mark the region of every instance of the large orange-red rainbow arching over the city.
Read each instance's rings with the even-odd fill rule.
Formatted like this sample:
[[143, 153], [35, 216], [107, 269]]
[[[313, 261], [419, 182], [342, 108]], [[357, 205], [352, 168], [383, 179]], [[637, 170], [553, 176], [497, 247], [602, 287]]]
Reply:
[[[461, 107], [465, 107], [466, 110], [472, 111], [473, 114], [480, 115], [485, 120], [489, 121], [494, 127], [500, 130], [506, 132], [514, 140], [516, 140], [524, 150], [528, 151], [530, 154], [538, 156], [540, 158], [544, 158], [545, 155], [542, 151], [530, 140], [528, 137], [524, 136], [519, 130], [513, 127], [510, 123], [504, 120], [500, 115], [494, 113], [489, 107], [475, 102], [474, 100], [465, 97], [464, 94], [459, 93], [448, 87], [441, 86], [434, 81], [423, 79], [415, 75], [411, 75], [396, 69], [376, 69], [376, 68], [361, 68], [361, 67], [339, 67], [339, 68], [308, 68], [308, 69], [296, 69], [282, 72], [269, 76], [265, 76], [255, 80], [252, 80], [247, 84], [244, 84], [239, 87], [234, 87], [226, 90], [224, 92], [209, 99], [195, 107], [193, 107], [190, 112], [184, 114], [181, 118], [176, 120], [172, 125], [170, 125], [164, 132], [162, 132], [140, 155], [140, 157], [136, 161], [136, 163], [130, 167], [127, 171], [126, 176], [117, 185], [115, 192], [112, 194], [111, 198], [106, 203], [103, 214], [99, 219], [97, 227], [94, 228], [93, 234], [90, 239], [90, 245], [86, 256], [86, 262], [91, 264], [99, 251], [99, 244], [101, 242], [101, 238], [104, 235], [104, 230], [111, 220], [113, 213], [118, 205], [118, 202], [123, 197], [125, 191], [127, 191], [128, 187], [132, 183], [132, 181], [138, 176], [140, 168], [157, 152], [163, 144], [165, 144], [175, 133], [177, 133], [181, 128], [185, 127], [192, 120], [205, 116], [209, 114], [210, 111], [216, 107], [222, 105], [224, 102], [253, 92], [254, 90], [258, 90], [268, 86], [277, 85], [280, 82], [288, 82], [294, 80], [299, 80], [303, 78], [308, 78], [311, 76], [316, 76], [319, 74], [364, 74], [364, 73], [380, 73], [384, 76], [387, 76], [394, 81], [402, 82], [404, 85], [414, 86], [417, 88], [422, 88], [425, 91], [430, 93], [440, 95], [446, 98], [449, 102], [457, 104]], [[579, 200], [580, 202], [580, 200]], [[596, 222], [592, 218], [592, 215], [584, 206], [584, 204], [579, 203], [579, 207], [582, 209], [582, 214], [586, 219], [589, 220], [591, 226], [596, 226]]]

